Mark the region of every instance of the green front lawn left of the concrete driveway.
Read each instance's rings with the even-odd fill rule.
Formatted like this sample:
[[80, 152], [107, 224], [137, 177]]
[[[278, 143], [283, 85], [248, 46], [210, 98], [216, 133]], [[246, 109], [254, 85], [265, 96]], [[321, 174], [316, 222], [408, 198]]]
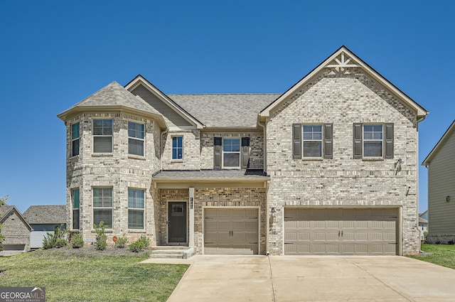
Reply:
[[0, 286], [45, 287], [48, 302], [166, 301], [188, 265], [139, 263], [147, 257], [63, 249], [0, 257]]

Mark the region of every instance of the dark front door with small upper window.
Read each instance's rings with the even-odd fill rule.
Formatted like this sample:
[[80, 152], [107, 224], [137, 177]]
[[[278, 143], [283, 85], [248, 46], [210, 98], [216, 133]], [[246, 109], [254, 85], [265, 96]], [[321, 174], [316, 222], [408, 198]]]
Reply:
[[186, 203], [168, 203], [168, 242], [186, 242]]

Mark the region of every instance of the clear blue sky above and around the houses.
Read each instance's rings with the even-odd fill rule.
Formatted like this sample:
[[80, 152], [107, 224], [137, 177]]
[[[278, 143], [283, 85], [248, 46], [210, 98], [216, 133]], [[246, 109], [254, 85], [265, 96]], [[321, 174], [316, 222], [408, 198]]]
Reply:
[[[0, 1], [0, 196], [65, 203], [56, 114], [116, 80], [165, 93], [282, 93], [341, 45], [431, 113], [419, 163], [455, 118], [455, 1]], [[427, 171], [419, 169], [419, 210]]]

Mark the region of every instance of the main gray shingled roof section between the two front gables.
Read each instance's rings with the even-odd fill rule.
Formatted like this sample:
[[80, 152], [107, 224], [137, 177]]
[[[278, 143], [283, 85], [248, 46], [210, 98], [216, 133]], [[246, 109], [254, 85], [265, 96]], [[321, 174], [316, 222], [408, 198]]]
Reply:
[[168, 95], [207, 127], [255, 127], [257, 114], [280, 94]]

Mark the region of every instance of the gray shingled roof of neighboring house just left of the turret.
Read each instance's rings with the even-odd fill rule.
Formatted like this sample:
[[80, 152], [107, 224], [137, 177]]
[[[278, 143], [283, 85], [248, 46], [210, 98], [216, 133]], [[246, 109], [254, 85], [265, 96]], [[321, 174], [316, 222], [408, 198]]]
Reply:
[[66, 205], [31, 205], [23, 212], [30, 225], [66, 223]]

